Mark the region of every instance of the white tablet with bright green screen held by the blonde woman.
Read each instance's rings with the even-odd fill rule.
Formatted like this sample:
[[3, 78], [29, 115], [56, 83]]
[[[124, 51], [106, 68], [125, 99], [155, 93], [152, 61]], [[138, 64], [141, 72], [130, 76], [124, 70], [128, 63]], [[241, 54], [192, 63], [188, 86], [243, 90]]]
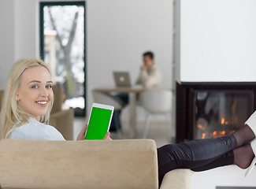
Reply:
[[113, 106], [92, 104], [85, 139], [97, 140], [104, 138], [106, 133], [109, 132], [113, 109]]

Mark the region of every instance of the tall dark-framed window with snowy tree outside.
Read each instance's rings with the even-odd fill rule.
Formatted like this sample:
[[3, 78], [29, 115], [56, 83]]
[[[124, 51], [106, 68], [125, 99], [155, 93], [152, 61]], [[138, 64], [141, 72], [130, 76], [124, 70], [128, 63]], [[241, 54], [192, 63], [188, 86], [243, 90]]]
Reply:
[[40, 2], [40, 55], [76, 116], [85, 115], [85, 49], [85, 2]]

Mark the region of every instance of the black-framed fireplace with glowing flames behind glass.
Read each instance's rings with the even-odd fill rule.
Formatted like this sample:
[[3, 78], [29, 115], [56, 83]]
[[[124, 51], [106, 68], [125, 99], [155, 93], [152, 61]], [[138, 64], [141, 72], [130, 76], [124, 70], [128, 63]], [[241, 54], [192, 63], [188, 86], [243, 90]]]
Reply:
[[176, 82], [176, 142], [236, 132], [255, 102], [256, 83]]

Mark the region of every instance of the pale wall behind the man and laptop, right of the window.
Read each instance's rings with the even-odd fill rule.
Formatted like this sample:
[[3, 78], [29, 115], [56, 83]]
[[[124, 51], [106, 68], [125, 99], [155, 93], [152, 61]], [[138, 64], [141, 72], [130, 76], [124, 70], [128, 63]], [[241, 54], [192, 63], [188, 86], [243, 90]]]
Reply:
[[172, 2], [87, 0], [87, 109], [93, 87], [114, 86], [114, 70], [130, 72], [135, 83], [146, 50], [155, 53], [162, 85], [171, 85]]

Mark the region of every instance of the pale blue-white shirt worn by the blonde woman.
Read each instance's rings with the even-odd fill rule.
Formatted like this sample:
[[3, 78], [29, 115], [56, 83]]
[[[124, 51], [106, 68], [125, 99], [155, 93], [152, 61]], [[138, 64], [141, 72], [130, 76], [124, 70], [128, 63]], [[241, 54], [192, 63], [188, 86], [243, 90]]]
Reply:
[[11, 132], [10, 139], [65, 140], [56, 128], [40, 123], [32, 117], [28, 120], [27, 124], [15, 128]]

